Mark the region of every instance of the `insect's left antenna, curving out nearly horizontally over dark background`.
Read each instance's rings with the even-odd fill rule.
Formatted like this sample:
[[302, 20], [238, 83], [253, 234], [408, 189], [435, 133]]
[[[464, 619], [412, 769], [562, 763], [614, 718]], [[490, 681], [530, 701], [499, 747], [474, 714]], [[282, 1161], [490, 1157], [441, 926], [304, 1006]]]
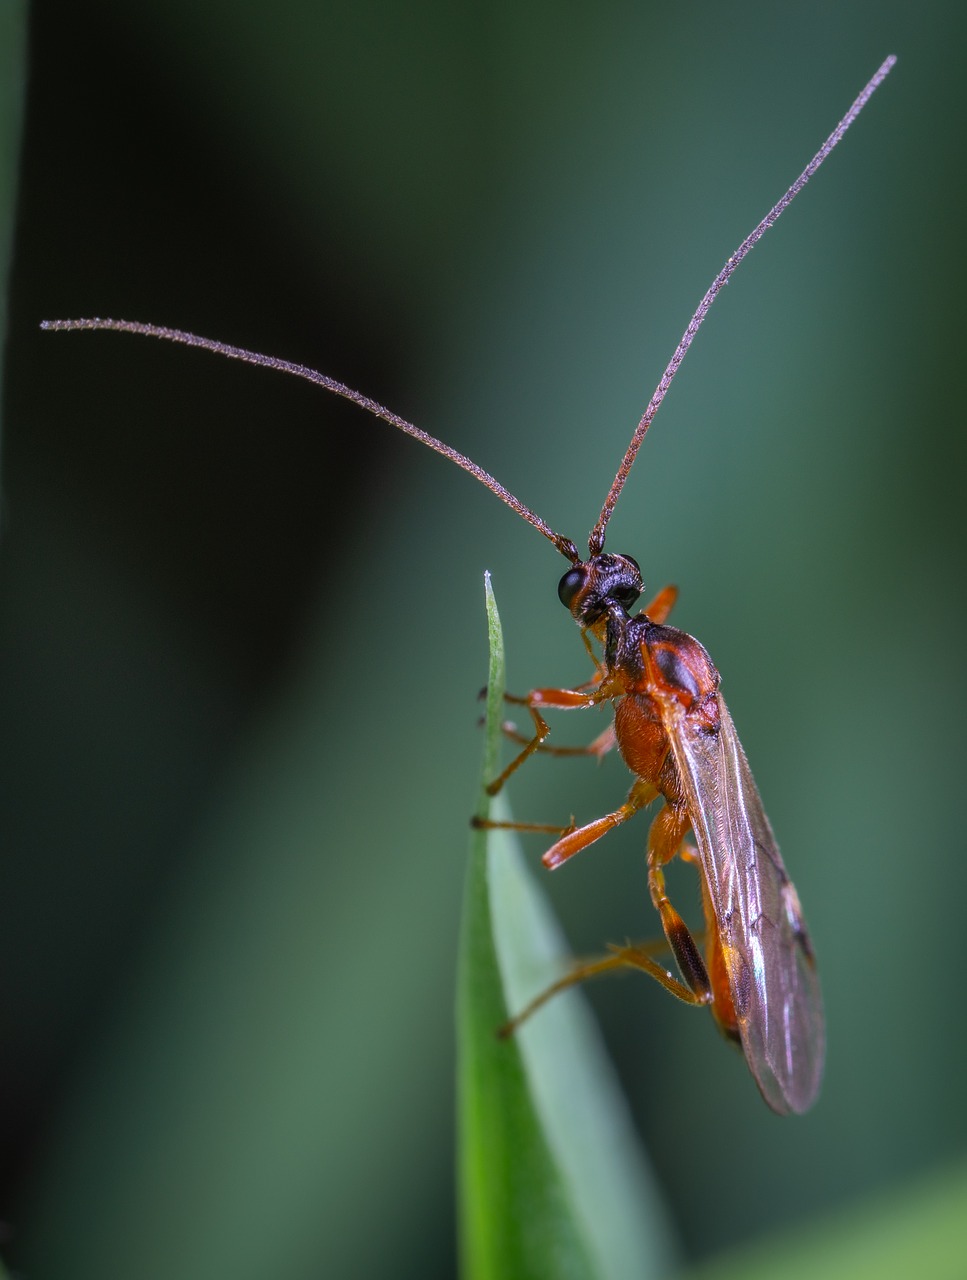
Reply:
[[392, 410], [386, 408], [378, 401], [370, 399], [369, 396], [364, 396], [361, 392], [355, 392], [351, 387], [346, 387], [343, 383], [338, 383], [334, 378], [320, 374], [315, 369], [309, 369], [306, 365], [296, 365], [289, 360], [279, 360], [275, 356], [263, 356], [257, 351], [246, 351], [245, 347], [232, 347], [225, 342], [218, 342], [215, 338], [200, 338], [197, 334], [186, 333], [183, 329], [168, 329], [165, 325], [158, 324], [142, 324], [140, 320], [102, 320], [99, 316], [86, 320], [42, 320], [41, 329], [55, 333], [74, 329], [111, 329], [115, 333], [137, 333], [147, 338], [164, 338], [167, 342], [179, 342], [186, 347], [201, 347], [205, 351], [214, 351], [219, 356], [227, 356], [229, 360], [243, 360], [250, 365], [261, 365], [264, 369], [275, 369], [283, 374], [295, 374], [296, 378], [305, 378], [307, 381], [316, 383], [328, 392], [333, 392], [336, 396], [342, 396], [343, 399], [352, 401], [353, 404], [359, 404], [366, 412], [373, 413], [375, 417], [382, 417], [384, 422], [389, 422], [391, 426], [398, 428], [406, 435], [411, 435], [435, 453], [442, 453], [444, 458], [456, 462], [459, 467], [469, 471], [480, 484], [487, 485], [491, 493], [497, 494], [501, 502], [506, 502], [511, 511], [516, 511], [519, 516], [526, 520], [529, 525], [533, 525], [544, 538], [549, 538], [558, 552], [571, 564], [576, 564], [580, 561], [578, 549], [570, 538], [556, 534], [549, 525], [544, 524], [540, 516], [533, 512], [530, 507], [525, 507], [519, 498], [514, 497], [510, 489], [503, 488], [500, 480], [494, 480], [489, 471], [478, 467], [464, 453], [452, 449], [443, 440], [438, 440], [435, 435], [421, 431], [419, 426], [407, 422], [405, 417], [393, 413]]

